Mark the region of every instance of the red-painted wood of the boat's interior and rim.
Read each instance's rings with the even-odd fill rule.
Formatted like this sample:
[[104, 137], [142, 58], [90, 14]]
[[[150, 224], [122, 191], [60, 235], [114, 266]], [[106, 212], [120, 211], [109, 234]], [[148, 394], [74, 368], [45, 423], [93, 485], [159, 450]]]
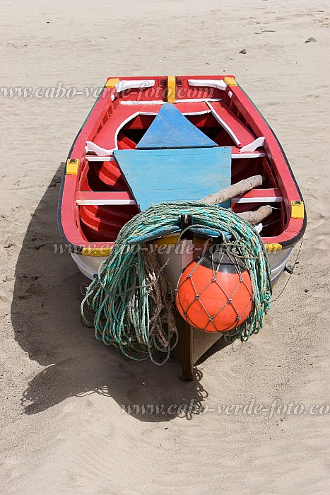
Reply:
[[[208, 78], [222, 79], [224, 76], [208, 76]], [[182, 86], [177, 88], [182, 94], [191, 88], [188, 86], [189, 77], [182, 77]], [[194, 76], [194, 78], [204, 78]], [[125, 78], [135, 79], [135, 78]], [[64, 190], [61, 204], [61, 227], [69, 243], [88, 247], [101, 247], [104, 243], [113, 243], [120, 228], [129, 221], [139, 210], [135, 205], [76, 205], [78, 191], [93, 197], [93, 192], [123, 192], [129, 188], [124, 177], [114, 161], [90, 161], [86, 159], [86, 141], [93, 141], [98, 146], [112, 149], [135, 148], [146, 129], [151, 125], [155, 115], [160, 109], [160, 104], [151, 105], [121, 105], [121, 100], [162, 100], [164, 87], [161, 86], [163, 78], [155, 78], [155, 94], [149, 91], [128, 91], [123, 98], [116, 95], [114, 88], [105, 88], [101, 98], [93, 107], [88, 119], [81, 129], [78, 138], [72, 148], [69, 158], [78, 158], [80, 166], [78, 175], [65, 175]], [[231, 92], [231, 98], [228, 94]], [[149, 95], [149, 96], [148, 96]], [[112, 101], [112, 96], [115, 96]], [[156, 98], [155, 98], [156, 96]], [[300, 200], [295, 181], [290, 173], [285, 157], [276, 138], [273, 136], [266, 122], [249, 98], [239, 86], [228, 87], [226, 91], [214, 88], [194, 88], [191, 98], [223, 98], [222, 101], [212, 102], [214, 110], [229, 125], [237, 138], [240, 146], [235, 146], [229, 134], [220, 126], [211, 115], [206, 103], [176, 103], [177, 108], [184, 114], [188, 112], [205, 112], [201, 115], [186, 115], [187, 118], [199, 127], [219, 146], [232, 146], [232, 153], [240, 153], [240, 147], [249, 144], [259, 136], [265, 136], [266, 142], [264, 158], [232, 159], [232, 183], [251, 175], [260, 174], [265, 177], [261, 186], [263, 189], [275, 188], [276, 194], [281, 192], [283, 202], [270, 203], [275, 206], [271, 216], [264, 222], [261, 234], [266, 243], [281, 243], [295, 237], [302, 228], [301, 219], [290, 218], [290, 202]], [[148, 114], [148, 115], [145, 115]], [[206, 165], [207, 166], [207, 165]], [[148, 185], [146, 185], [148, 187]], [[249, 193], [249, 194], [254, 194]], [[258, 193], [256, 192], [256, 195]], [[269, 196], [269, 194], [266, 194]], [[87, 197], [87, 196], [86, 196]], [[247, 211], [257, 209], [261, 204], [234, 204], [234, 211]]]

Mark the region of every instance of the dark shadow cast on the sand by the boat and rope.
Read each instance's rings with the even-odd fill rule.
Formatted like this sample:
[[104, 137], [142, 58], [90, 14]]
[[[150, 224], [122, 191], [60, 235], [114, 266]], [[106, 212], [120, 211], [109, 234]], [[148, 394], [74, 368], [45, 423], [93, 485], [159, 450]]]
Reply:
[[208, 395], [199, 368], [194, 368], [194, 381], [184, 383], [174, 359], [164, 366], [125, 361], [81, 324], [86, 279], [61, 244], [56, 220], [63, 169], [61, 163], [31, 218], [16, 265], [11, 305], [15, 338], [42, 367], [23, 392], [25, 414], [95, 393], [112, 397], [140, 421], [190, 419], [202, 412]]

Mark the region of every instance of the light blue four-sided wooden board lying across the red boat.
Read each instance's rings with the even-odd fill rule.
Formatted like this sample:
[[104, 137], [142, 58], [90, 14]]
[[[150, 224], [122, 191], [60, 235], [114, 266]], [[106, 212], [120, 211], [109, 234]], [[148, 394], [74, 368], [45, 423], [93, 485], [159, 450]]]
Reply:
[[141, 211], [151, 204], [196, 201], [228, 187], [231, 157], [231, 146], [114, 151]]

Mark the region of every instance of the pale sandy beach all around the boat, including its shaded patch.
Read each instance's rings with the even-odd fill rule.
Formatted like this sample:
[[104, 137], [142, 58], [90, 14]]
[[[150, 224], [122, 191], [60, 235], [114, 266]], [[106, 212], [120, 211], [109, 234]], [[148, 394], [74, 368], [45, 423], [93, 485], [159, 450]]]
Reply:
[[[93, 97], [0, 96], [2, 494], [329, 493], [329, 414], [168, 409], [329, 403], [326, 4], [1, 1], [1, 87], [236, 74], [283, 144], [309, 217], [258, 336], [199, 363], [194, 383], [178, 379], [175, 361], [123, 361], [81, 325], [83, 278], [53, 248], [63, 162]], [[164, 414], [124, 413], [133, 404], [164, 404]]]

